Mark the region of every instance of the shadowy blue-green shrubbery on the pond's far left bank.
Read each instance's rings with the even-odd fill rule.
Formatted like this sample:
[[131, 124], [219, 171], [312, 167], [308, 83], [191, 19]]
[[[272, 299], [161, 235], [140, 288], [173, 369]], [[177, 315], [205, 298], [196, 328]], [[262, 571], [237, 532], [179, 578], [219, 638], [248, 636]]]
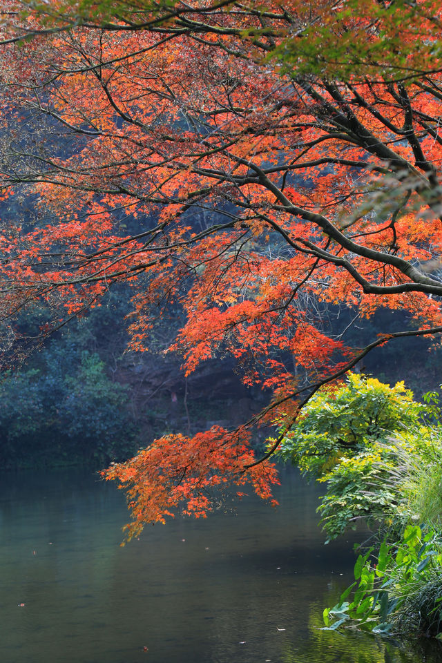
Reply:
[[1, 466], [97, 464], [133, 452], [127, 390], [99, 356], [54, 342], [43, 356], [0, 383]]

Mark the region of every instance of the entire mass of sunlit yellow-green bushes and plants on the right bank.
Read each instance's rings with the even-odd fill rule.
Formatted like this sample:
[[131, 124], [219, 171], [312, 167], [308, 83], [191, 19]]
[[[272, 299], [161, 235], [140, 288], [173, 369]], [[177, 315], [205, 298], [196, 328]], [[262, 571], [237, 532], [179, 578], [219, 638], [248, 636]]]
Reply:
[[378, 550], [358, 557], [354, 584], [324, 611], [327, 628], [442, 631], [439, 396], [424, 401], [403, 383], [350, 374], [314, 394], [282, 443], [284, 459], [326, 484], [318, 511], [329, 538], [359, 519], [377, 529]]

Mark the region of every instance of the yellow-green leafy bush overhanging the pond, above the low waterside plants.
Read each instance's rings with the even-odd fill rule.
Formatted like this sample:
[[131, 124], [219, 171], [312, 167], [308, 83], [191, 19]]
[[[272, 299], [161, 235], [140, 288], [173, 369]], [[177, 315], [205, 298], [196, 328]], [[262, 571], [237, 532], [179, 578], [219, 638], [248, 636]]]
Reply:
[[[423, 412], [425, 406], [403, 383], [390, 387], [358, 374], [311, 398], [279, 453], [307, 477], [326, 483], [318, 510], [327, 541], [358, 519], [397, 517], [400, 492], [390, 479], [398, 447], [416, 446], [401, 434], [416, 430]], [[392, 436], [403, 441], [392, 443]]]

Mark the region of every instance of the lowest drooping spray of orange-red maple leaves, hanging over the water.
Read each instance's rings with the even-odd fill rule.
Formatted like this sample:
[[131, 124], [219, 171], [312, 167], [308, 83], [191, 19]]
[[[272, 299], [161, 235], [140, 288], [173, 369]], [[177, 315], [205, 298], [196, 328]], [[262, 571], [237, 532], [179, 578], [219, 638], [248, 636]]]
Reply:
[[[236, 492], [240, 498], [247, 494], [243, 487], [251, 484], [259, 497], [276, 506], [271, 494], [271, 486], [279, 483], [276, 468], [254, 463], [249, 433], [242, 430], [238, 436], [240, 439], [231, 440], [225, 428], [212, 426], [208, 432], [197, 434], [198, 444], [191, 446], [187, 436], [164, 435], [134, 458], [104, 470], [104, 479], [117, 480], [127, 492], [132, 517], [124, 526], [127, 540], [140, 534], [146, 521], [164, 523], [177, 509], [184, 515], [206, 518], [213, 508], [214, 493], [219, 499], [229, 484], [242, 489]], [[219, 444], [224, 446], [224, 455], [213, 463]], [[241, 472], [244, 467], [249, 471]]]

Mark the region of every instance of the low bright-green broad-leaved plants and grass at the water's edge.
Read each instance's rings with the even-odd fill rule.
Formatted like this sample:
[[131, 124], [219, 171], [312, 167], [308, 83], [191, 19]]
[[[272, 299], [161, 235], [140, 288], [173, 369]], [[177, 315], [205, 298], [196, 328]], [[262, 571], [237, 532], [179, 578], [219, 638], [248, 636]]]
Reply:
[[[383, 541], [376, 563], [372, 549], [360, 555], [355, 582], [333, 608], [325, 608], [327, 628], [358, 626], [372, 633], [442, 637], [442, 541], [430, 528], [409, 525], [399, 544]], [[353, 599], [347, 601], [352, 590]]]

